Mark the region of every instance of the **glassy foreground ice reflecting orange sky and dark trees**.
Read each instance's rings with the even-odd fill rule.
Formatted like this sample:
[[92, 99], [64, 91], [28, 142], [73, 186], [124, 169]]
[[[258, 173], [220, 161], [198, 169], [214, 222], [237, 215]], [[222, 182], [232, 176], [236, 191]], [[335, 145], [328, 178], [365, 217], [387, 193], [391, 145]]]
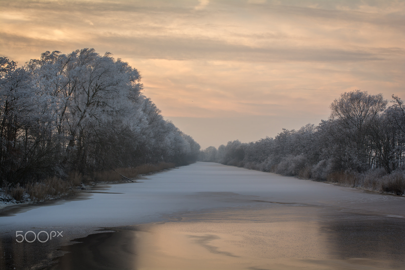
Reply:
[[263, 204], [256, 209], [178, 213], [171, 220], [175, 222], [119, 227], [116, 233], [77, 239], [83, 243], [64, 247], [71, 253], [46, 269], [357, 270], [405, 266], [403, 219], [318, 206]]

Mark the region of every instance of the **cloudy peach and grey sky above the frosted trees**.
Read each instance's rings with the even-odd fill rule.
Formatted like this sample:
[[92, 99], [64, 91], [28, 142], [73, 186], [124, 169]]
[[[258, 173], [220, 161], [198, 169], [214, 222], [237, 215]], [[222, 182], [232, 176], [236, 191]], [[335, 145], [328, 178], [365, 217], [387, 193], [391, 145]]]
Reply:
[[405, 99], [405, 1], [0, 0], [0, 56], [109, 51], [201, 147], [327, 120], [343, 92]]

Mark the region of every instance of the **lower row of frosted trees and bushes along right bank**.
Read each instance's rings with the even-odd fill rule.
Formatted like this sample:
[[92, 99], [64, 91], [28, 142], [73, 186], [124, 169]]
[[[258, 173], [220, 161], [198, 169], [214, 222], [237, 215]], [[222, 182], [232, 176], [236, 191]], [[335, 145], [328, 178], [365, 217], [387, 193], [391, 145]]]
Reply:
[[392, 99], [388, 106], [382, 94], [345, 92], [318, 126], [210, 146], [200, 160], [403, 194], [405, 105], [398, 96]]

